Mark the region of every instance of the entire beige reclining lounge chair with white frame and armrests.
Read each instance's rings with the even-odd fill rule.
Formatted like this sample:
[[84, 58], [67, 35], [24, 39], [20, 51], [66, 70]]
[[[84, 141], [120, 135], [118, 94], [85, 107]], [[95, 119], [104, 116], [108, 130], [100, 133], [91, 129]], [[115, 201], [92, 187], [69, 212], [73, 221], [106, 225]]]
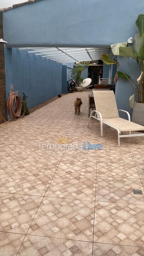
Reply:
[[[144, 126], [133, 123], [130, 121], [130, 115], [127, 111], [118, 110], [116, 105], [116, 99], [113, 91], [93, 91], [96, 110], [91, 111], [89, 123], [91, 118], [100, 121], [101, 124], [101, 137], [103, 137], [102, 124], [107, 124], [112, 129], [117, 130], [118, 133], [118, 146], [120, 146], [119, 138], [123, 137], [134, 137], [134, 136], [144, 136], [144, 133], [131, 134], [131, 131], [144, 130]], [[126, 112], [128, 115], [128, 120], [120, 118], [118, 111]], [[95, 113], [95, 116], [92, 114]], [[121, 132], [129, 132], [129, 134], [122, 134]]]

